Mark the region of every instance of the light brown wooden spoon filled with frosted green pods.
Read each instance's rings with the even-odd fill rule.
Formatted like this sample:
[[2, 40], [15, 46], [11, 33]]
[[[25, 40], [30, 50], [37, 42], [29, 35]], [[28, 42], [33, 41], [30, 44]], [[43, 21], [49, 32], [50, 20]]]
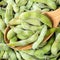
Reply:
[[[59, 25], [59, 22], [60, 22], [60, 8], [55, 10], [55, 11], [45, 12], [44, 14], [47, 15], [51, 19], [51, 21], [53, 23], [53, 27], [56, 28]], [[5, 33], [4, 33], [4, 39], [5, 39], [6, 44], [9, 43], [9, 40], [7, 39], [7, 33], [8, 33], [9, 30], [10, 30], [10, 26], [7, 26], [7, 28], [5, 30]], [[52, 35], [53, 35], [53, 33], [50, 34], [48, 37], [46, 37], [44, 39], [44, 42], [46, 42]], [[18, 47], [11, 47], [11, 48], [13, 48], [15, 50], [27, 50], [27, 49], [32, 48], [32, 44], [24, 46], [24, 47], [18, 46]]]

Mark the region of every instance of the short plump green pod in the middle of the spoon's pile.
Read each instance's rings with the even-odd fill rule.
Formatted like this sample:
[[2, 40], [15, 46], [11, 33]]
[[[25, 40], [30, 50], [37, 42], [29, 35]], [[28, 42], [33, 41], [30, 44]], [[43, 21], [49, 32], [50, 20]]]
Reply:
[[23, 30], [23, 29], [20, 29], [20, 28], [14, 28], [14, 32], [17, 34], [17, 37], [19, 39], [27, 39], [29, 38], [32, 34], [34, 34], [33, 31], [31, 30]]

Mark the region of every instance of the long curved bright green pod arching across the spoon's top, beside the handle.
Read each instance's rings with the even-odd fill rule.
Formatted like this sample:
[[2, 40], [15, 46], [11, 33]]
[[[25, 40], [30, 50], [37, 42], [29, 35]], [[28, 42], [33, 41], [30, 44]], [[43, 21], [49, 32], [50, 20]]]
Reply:
[[20, 19], [23, 20], [28, 20], [29, 18], [38, 19], [40, 22], [48, 25], [49, 27], [52, 27], [52, 22], [50, 21], [50, 19], [44, 14], [41, 14], [40, 12], [29, 11], [29, 12], [24, 12], [20, 15]]

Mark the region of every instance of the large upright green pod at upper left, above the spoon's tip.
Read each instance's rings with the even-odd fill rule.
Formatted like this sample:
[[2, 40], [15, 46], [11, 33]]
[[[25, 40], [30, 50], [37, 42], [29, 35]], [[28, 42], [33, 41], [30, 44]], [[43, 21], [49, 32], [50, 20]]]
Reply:
[[5, 23], [8, 24], [8, 22], [13, 18], [13, 7], [11, 4], [8, 4], [6, 7], [6, 13], [5, 13]]

